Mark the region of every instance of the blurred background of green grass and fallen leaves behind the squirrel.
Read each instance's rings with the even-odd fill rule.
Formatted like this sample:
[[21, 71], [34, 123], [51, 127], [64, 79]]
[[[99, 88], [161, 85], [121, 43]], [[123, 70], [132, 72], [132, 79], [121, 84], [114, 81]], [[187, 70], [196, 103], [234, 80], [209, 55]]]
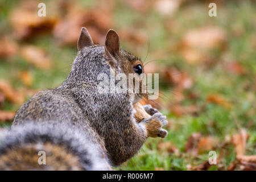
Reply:
[[158, 100], [142, 104], [169, 121], [166, 138], [148, 139], [115, 169], [256, 169], [256, 1], [0, 0], [0, 22], [0, 132], [24, 101], [65, 80], [81, 27], [98, 44], [113, 28], [147, 73], [159, 73]]

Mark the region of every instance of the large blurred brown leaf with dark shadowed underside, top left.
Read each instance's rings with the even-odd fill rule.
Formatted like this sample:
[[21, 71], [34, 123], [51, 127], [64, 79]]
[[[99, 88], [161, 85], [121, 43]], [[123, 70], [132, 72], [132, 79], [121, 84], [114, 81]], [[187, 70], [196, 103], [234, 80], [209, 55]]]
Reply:
[[[57, 18], [47, 14], [38, 16], [39, 1], [22, 1], [10, 14], [11, 24], [19, 39], [31, 38], [52, 30]], [[48, 13], [48, 11], [47, 11]]]

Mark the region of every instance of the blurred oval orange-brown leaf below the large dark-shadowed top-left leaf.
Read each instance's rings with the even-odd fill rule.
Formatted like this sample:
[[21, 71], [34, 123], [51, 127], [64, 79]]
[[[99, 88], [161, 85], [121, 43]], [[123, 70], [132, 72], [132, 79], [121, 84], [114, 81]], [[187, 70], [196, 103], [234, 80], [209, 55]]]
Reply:
[[22, 57], [38, 68], [49, 69], [51, 67], [51, 59], [43, 49], [35, 46], [23, 46], [20, 49]]

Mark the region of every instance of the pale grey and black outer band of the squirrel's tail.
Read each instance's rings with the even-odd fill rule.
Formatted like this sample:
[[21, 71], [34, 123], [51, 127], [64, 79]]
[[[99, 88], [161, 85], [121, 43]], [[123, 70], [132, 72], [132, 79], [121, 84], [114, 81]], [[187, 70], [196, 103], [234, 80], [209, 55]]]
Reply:
[[[14, 126], [0, 138], [0, 155], [26, 144], [42, 146], [46, 142], [65, 146], [71, 154], [79, 156], [80, 165], [85, 170], [109, 169], [106, 165], [109, 163], [108, 158], [102, 152], [104, 150], [102, 150], [100, 144], [93, 142], [92, 136], [84, 135], [72, 126], [55, 125], [53, 127], [48, 122], [37, 123], [36, 125], [27, 122], [24, 125]], [[43, 150], [43, 148], [37, 148], [37, 150]], [[51, 166], [46, 166], [45, 169], [51, 169]]]

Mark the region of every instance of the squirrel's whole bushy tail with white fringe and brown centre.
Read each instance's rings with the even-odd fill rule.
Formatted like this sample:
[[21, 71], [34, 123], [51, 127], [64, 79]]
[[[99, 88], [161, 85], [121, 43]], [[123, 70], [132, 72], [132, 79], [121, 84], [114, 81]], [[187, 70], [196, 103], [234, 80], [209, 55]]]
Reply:
[[0, 138], [0, 170], [109, 170], [100, 144], [72, 127], [28, 122]]

